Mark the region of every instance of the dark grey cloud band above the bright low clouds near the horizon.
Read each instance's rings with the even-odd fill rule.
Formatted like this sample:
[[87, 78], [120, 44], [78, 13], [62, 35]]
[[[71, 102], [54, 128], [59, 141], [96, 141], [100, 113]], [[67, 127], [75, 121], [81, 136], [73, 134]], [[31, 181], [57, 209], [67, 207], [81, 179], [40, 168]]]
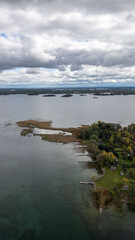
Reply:
[[[53, 60], [39, 59], [38, 56], [28, 52], [27, 55], [21, 49], [19, 52], [1, 51], [0, 69], [23, 68], [49, 68], [64, 71], [69, 66], [71, 71], [83, 68], [83, 65], [120, 68], [135, 65], [135, 48], [120, 50], [65, 50], [57, 49], [55, 52], [46, 51], [47, 54], [54, 56]], [[29, 70], [28, 70], [29, 71]], [[34, 72], [38, 71], [33, 70]]]

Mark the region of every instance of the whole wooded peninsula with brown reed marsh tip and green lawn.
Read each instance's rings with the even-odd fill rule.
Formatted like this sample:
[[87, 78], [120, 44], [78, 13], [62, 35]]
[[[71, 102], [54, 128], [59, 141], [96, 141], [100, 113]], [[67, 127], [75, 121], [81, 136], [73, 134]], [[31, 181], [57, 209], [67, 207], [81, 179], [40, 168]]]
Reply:
[[[93, 176], [96, 203], [106, 207], [113, 201], [121, 200], [135, 209], [135, 124], [122, 128], [120, 124], [98, 121], [92, 125], [61, 129], [53, 128], [51, 122], [35, 120], [17, 124], [23, 127], [22, 136], [32, 134], [52, 142], [79, 142], [101, 172], [100, 178]], [[54, 133], [35, 133], [35, 128], [50, 129]], [[56, 134], [56, 130], [72, 135], [64, 132]]]

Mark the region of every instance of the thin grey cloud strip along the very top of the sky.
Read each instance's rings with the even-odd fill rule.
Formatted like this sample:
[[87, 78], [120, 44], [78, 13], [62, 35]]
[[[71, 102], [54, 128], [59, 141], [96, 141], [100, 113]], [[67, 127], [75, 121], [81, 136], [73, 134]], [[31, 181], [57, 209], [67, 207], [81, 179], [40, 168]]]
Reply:
[[14, 8], [39, 8], [47, 11], [86, 11], [94, 13], [110, 13], [131, 10], [134, 0], [1, 0], [2, 5]]

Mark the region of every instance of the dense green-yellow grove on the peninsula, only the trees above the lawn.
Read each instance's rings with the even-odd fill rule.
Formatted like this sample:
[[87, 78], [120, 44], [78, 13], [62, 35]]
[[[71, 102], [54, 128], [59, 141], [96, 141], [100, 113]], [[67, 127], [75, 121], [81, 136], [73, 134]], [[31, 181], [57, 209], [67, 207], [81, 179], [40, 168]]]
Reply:
[[117, 162], [116, 149], [121, 149], [123, 159], [135, 164], [135, 124], [122, 128], [120, 124], [98, 121], [81, 128], [78, 137], [89, 140], [88, 152], [101, 166]]

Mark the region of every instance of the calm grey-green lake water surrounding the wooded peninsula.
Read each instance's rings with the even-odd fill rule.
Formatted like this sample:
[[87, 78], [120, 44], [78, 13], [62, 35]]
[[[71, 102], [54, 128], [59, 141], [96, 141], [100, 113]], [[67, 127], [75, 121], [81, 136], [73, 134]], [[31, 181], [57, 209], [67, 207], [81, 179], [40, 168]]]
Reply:
[[39, 119], [71, 127], [101, 120], [125, 126], [135, 122], [134, 101], [135, 96], [0, 96], [0, 239], [134, 239], [135, 213], [123, 205], [100, 214], [90, 186], [79, 184], [97, 172], [77, 164], [84, 157], [76, 157], [75, 144], [20, 136], [15, 124]]

